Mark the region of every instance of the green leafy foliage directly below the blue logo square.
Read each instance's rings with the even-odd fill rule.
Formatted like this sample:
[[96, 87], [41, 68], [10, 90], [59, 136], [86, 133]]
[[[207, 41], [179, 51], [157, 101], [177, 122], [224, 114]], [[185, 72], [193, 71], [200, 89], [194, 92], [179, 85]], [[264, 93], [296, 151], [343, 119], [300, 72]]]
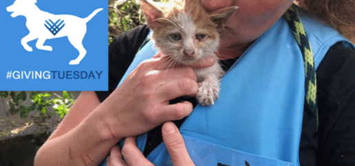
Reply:
[[52, 99], [52, 95], [52, 93], [32, 91], [30, 93], [32, 104], [30, 106], [24, 106], [23, 102], [27, 99], [25, 91], [0, 92], [0, 97], [3, 97], [4, 99], [10, 97], [10, 100], [8, 101], [10, 113], [20, 113], [21, 118], [27, 117], [28, 113], [33, 110], [41, 112], [42, 117], [50, 117], [50, 112], [47, 111], [48, 107], [54, 108], [61, 117], [64, 117], [72, 104], [74, 104], [74, 95], [72, 93], [67, 93], [67, 91], [63, 91], [63, 97], [58, 96]]

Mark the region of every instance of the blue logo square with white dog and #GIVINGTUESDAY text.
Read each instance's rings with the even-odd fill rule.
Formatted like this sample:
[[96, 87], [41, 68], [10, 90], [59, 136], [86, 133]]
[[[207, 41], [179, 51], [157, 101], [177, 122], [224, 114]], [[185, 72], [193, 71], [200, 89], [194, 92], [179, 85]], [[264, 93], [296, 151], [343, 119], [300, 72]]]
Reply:
[[107, 91], [108, 1], [0, 1], [0, 91]]

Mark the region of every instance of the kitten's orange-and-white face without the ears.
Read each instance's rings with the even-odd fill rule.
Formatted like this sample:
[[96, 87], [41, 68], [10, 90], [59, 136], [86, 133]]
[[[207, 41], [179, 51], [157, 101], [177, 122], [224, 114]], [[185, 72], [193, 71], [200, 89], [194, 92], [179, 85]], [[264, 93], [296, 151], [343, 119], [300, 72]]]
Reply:
[[168, 19], [173, 23], [153, 29], [152, 36], [164, 55], [182, 64], [192, 64], [217, 51], [219, 34], [215, 25], [198, 25], [186, 12]]

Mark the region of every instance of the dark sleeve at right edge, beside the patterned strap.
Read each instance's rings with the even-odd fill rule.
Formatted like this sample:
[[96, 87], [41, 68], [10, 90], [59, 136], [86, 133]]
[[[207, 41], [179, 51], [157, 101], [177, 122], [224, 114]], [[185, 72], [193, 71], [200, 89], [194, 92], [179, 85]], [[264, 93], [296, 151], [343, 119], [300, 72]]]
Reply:
[[332, 46], [317, 69], [317, 165], [355, 165], [355, 51]]

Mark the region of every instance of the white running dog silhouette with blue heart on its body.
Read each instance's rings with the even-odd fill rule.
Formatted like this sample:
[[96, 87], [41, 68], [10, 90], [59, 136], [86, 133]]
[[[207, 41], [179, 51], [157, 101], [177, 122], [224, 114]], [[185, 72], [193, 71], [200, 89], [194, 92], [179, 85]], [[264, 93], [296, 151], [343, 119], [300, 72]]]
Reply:
[[30, 34], [21, 39], [23, 48], [32, 51], [32, 47], [27, 43], [38, 38], [37, 49], [52, 51], [52, 47], [43, 45], [45, 40], [67, 36], [69, 42], [79, 51], [79, 56], [75, 60], [71, 60], [69, 64], [79, 64], [87, 53], [83, 47], [83, 38], [87, 30], [86, 23], [103, 8], [94, 10], [92, 14], [82, 19], [69, 14], [55, 15], [44, 12], [35, 3], [37, 3], [36, 0], [16, 0], [14, 4], [6, 8], [8, 12], [13, 12], [12, 17], [25, 16], [26, 18], [26, 27]]

